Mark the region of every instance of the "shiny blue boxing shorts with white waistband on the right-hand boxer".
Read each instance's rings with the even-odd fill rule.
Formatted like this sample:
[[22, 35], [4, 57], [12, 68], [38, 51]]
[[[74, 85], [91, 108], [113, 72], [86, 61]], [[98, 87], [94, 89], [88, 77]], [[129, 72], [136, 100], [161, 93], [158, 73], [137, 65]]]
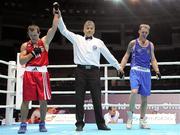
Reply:
[[138, 94], [149, 96], [151, 94], [151, 72], [148, 68], [139, 66], [131, 67], [130, 85], [132, 89], [138, 89]]

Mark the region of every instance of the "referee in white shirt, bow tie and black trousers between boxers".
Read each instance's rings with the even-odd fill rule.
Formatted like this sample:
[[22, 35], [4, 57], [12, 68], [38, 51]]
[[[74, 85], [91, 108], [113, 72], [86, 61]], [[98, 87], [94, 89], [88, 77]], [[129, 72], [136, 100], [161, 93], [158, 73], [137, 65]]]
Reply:
[[62, 16], [59, 18], [58, 28], [72, 44], [74, 52], [74, 63], [77, 65], [75, 70], [75, 98], [76, 98], [76, 131], [83, 131], [85, 125], [84, 118], [84, 97], [88, 88], [91, 92], [95, 118], [98, 130], [111, 130], [105, 125], [101, 106], [101, 85], [100, 85], [100, 54], [116, 68], [119, 72], [120, 65], [114, 56], [105, 46], [104, 42], [93, 37], [95, 24], [87, 20], [84, 24], [84, 36], [75, 34], [67, 30]]

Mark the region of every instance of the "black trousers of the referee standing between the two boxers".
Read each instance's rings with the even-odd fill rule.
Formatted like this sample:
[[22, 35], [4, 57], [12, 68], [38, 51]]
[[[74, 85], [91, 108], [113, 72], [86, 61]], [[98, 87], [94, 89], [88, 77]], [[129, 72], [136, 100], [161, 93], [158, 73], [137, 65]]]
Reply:
[[105, 124], [101, 106], [100, 69], [95, 66], [78, 65], [75, 70], [76, 127], [84, 127], [84, 98], [86, 89], [90, 90], [97, 126]]

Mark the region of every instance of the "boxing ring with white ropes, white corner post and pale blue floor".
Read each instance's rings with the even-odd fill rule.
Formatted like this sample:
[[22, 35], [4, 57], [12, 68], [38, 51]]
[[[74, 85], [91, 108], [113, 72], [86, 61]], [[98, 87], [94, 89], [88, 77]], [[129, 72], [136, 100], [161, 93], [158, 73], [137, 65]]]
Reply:
[[[5, 125], [0, 126], [0, 135], [7, 135], [7, 134], [16, 134], [19, 128], [19, 123], [13, 123], [13, 112], [14, 109], [18, 109], [21, 104], [22, 98], [20, 97], [19, 87], [21, 87], [21, 82], [18, 79], [22, 79], [22, 69], [19, 71], [21, 67], [19, 67], [18, 62], [15, 61], [3, 61], [0, 60], [0, 64], [6, 65], [8, 67], [8, 74], [3, 75], [0, 74], [0, 79], [5, 79], [7, 81], [7, 89], [2, 90], [0, 89], [0, 94], [6, 94], [6, 104], [0, 105], [0, 109], [5, 109]], [[159, 66], [180, 66], [180, 62], [159, 62]], [[127, 64], [130, 66], [130, 64]], [[49, 65], [48, 69], [55, 69], [55, 68], [75, 68], [76, 65]], [[116, 106], [116, 107], [127, 107], [128, 104], [114, 104], [109, 102], [111, 94], [129, 94], [129, 90], [109, 90], [108, 81], [110, 80], [119, 80], [119, 77], [109, 77], [108, 70], [111, 66], [109, 64], [102, 64], [101, 69], [103, 69], [104, 76], [101, 77], [101, 80], [104, 82], [104, 90], [102, 90], [103, 95], [103, 102], [102, 106], [103, 109], [107, 109], [109, 106]], [[23, 67], [22, 67], [23, 68]], [[152, 79], [155, 80], [156, 77], [152, 76]], [[180, 75], [170, 75], [170, 76], [162, 76], [162, 79], [166, 80], [173, 80], [173, 79], [180, 79]], [[51, 78], [50, 81], [74, 81], [75, 78]], [[129, 77], [125, 77], [125, 80], [129, 80]], [[19, 84], [20, 83], [20, 84]], [[21, 92], [20, 92], [21, 93]], [[90, 92], [87, 91], [87, 94]], [[159, 89], [159, 90], [152, 90], [152, 96], [156, 93], [176, 93], [180, 94], [180, 89]], [[69, 95], [75, 94], [75, 91], [52, 91], [53, 95]], [[168, 102], [168, 101], [167, 101]], [[148, 107], [173, 107], [180, 109], [180, 100], [179, 104], [148, 104]], [[38, 105], [31, 104], [30, 107], [39, 107]], [[75, 108], [75, 105], [72, 104], [61, 104], [61, 105], [51, 105], [49, 104], [48, 107], [60, 107], [60, 108]], [[92, 109], [92, 104], [84, 105], [85, 109]], [[94, 116], [93, 116], [94, 117]], [[122, 134], [122, 135], [139, 135], [139, 134], [147, 134], [147, 135], [180, 135], [180, 124], [153, 124], [151, 125], [151, 130], [142, 130], [139, 129], [138, 125], [134, 125], [132, 130], [126, 130], [125, 124], [110, 124], [111, 131], [98, 131], [95, 124], [86, 124], [83, 132], [76, 132], [74, 124], [47, 124], [47, 133], [48, 135], [92, 135], [92, 134]], [[168, 130], [167, 130], [168, 129]], [[35, 134], [39, 135], [38, 126], [35, 124], [28, 125], [28, 132], [26, 134]]]

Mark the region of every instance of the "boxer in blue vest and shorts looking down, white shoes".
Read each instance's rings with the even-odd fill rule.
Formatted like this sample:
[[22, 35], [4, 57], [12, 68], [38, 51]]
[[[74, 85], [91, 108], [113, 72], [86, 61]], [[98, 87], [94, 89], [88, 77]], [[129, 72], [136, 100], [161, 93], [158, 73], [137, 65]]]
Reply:
[[141, 24], [139, 26], [139, 37], [130, 41], [127, 51], [121, 61], [121, 75], [124, 75], [124, 68], [131, 55], [130, 85], [131, 94], [129, 97], [129, 111], [127, 129], [132, 128], [132, 116], [135, 109], [137, 94], [141, 95], [140, 128], [150, 129], [146, 122], [147, 97], [151, 94], [151, 72], [150, 64], [156, 72], [157, 79], [161, 79], [157, 60], [154, 54], [154, 45], [147, 39], [150, 26]]

